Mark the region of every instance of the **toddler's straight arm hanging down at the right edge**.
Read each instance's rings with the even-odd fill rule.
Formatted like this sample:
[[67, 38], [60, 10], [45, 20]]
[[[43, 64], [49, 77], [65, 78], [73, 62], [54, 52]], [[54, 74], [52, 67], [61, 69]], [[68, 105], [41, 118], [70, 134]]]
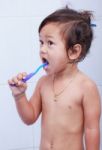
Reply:
[[86, 83], [83, 99], [86, 150], [100, 149], [100, 96], [94, 83]]

